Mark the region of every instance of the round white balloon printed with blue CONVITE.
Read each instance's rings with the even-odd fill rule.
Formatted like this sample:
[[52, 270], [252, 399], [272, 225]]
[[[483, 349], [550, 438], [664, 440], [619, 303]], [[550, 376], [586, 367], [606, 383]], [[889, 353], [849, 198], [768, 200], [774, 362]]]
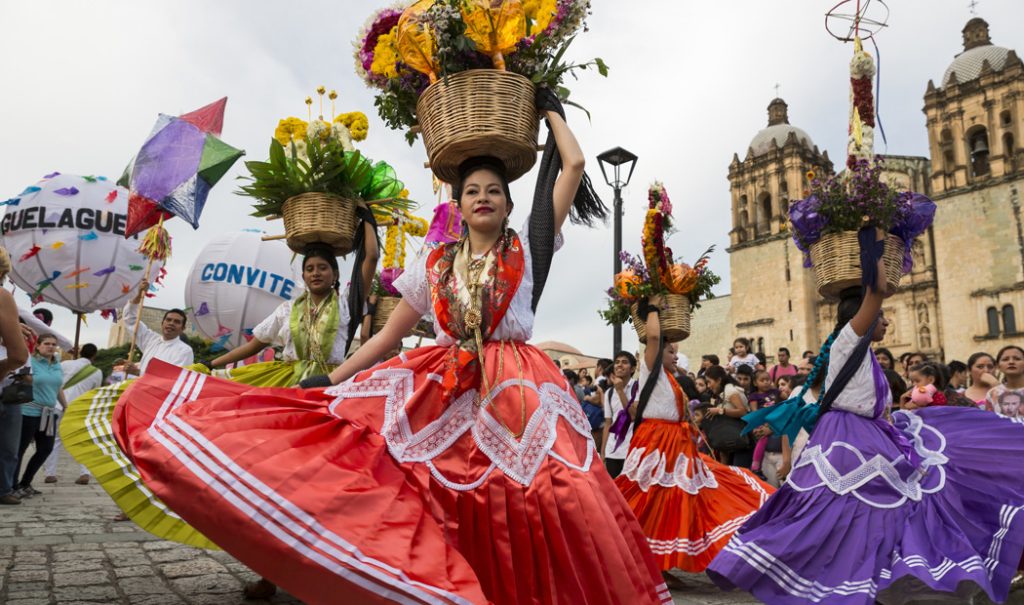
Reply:
[[302, 292], [301, 258], [258, 231], [225, 233], [203, 248], [185, 283], [189, 318], [226, 349]]

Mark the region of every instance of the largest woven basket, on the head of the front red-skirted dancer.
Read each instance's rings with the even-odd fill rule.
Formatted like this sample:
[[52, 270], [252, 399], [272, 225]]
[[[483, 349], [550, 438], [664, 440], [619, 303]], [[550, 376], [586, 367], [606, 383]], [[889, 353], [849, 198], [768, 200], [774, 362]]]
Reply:
[[529, 79], [498, 70], [460, 72], [431, 84], [416, 102], [430, 169], [459, 182], [459, 165], [476, 156], [505, 163], [508, 179], [537, 162], [538, 116]]

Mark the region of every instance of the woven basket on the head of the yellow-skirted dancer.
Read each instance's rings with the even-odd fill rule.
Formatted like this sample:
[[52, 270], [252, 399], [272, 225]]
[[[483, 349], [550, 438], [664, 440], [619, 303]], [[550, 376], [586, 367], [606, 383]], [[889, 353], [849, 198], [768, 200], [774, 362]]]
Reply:
[[343, 256], [352, 251], [355, 237], [355, 205], [334, 193], [300, 193], [282, 206], [285, 240], [293, 251], [302, 253], [306, 245], [327, 244]]

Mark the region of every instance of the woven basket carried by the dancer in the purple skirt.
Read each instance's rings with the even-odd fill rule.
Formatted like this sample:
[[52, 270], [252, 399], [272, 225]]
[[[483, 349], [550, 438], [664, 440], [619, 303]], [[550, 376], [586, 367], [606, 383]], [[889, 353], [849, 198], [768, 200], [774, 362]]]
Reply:
[[[889, 291], [899, 287], [903, 276], [903, 240], [890, 233], [882, 257], [886, 266]], [[860, 243], [856, 231], [826, 233], [811, 244], [811, 264], [818, 285], [818, 294], [838, 300], [847, 288], [860, 286]]]

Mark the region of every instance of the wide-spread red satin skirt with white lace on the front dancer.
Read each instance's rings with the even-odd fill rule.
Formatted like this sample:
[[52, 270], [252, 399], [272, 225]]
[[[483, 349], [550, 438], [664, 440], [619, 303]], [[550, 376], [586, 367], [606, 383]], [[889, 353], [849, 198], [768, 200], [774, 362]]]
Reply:
[[115, 432], [172, 510], [310, 604], [671, 603], [547, 355], [487, 343], [482, 405], [453, 360], [424, 347], [327, 391], [155, 360]]

